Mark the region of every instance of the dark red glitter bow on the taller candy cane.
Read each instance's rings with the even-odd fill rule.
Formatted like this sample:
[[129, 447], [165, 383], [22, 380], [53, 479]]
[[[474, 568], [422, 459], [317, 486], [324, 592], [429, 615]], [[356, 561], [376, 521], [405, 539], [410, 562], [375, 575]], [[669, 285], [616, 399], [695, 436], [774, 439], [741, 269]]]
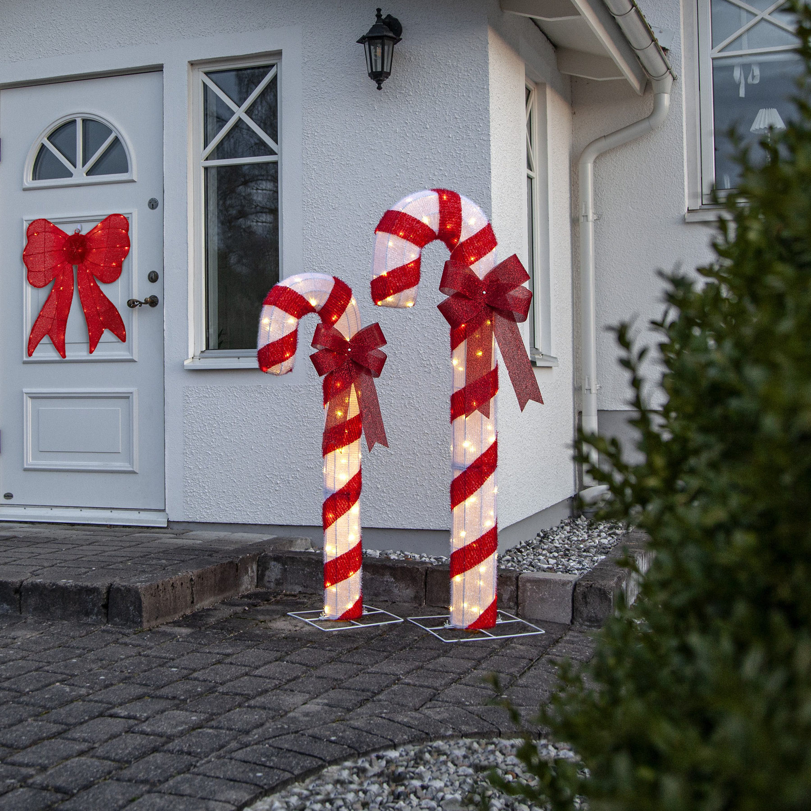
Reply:
[[451, 325], [451, 350], [467, 339], [466, 380], [470, 383], [465, 387], [465, 414], [478, 410], [490, 416], [490, 397], [478, 396], [481, 393], [475, 383], [491, 375], [494, 333], [521, 411], [530, 400], [543, 403], [517, 327], [517, 322], [526, 321], [530, 312], [532, 294], [522, 286], [529, 278], [515, 254], [497, 264], [483, 279], [462, 262], [445, 263], [440, 292], [448, 298], [437, 306]]

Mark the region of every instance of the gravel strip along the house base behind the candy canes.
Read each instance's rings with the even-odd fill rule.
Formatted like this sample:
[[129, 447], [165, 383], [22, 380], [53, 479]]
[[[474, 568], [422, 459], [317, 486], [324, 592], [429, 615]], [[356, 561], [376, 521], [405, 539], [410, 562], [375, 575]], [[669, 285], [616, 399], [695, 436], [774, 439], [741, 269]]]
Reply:
[[[560, 572], [582, 574], [594, 569], [625, 533], [615, 521], [589, 521], [585, 517], [567, 518], [550, 530], [522, 541], [499, 556], [501, 569], [519, 572]], [[366, 549], [363, 554], [392, 560], [420, 560], [430, 564], [448, 563], [441, 555], [422, 555], [396, 549]]]

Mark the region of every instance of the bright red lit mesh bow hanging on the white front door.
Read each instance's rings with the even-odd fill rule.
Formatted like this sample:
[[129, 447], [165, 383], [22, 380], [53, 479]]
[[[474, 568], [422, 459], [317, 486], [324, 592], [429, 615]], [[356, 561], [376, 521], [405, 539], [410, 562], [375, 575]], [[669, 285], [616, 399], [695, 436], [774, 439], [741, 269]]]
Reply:
[[87, 234], [70, 236], [48, 220], [28, 225], [28, 242], [23, 261], [28, 284], [51, 288], [28, 336], [28, 357], [47, 335], [57, 352], [65, 357], [65, 329], [73, 301], [73, 266], [77, 266], [79, 301], [88, 324], [90, 352], [109, 329], [119, 341], [127, 341], [127, 330], [114, 303], [101, 292], [97, 279], [109, 285], [121, 276], [123, 261], [130, 252], [130, 224], [122, 214], [110, 214]]

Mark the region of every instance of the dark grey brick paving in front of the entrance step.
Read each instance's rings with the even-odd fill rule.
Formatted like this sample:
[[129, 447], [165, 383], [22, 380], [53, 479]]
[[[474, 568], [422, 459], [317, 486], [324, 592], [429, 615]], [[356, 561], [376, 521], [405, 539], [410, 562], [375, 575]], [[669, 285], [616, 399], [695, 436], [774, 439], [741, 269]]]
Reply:
[[358, 753], [510, 734], [487, 673], [531, 714], [553, 659], [590, 655], [563, 625], [444, 645], [285, 616], [311, 603], [249, 594], [148, 631], [0, 616], [0, 809], [242, 808]]

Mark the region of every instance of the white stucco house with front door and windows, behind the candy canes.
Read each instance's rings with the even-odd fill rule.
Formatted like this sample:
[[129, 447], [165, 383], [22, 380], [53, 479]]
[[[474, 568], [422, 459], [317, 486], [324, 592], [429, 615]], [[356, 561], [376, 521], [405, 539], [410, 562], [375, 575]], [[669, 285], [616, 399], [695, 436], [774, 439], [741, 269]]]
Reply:
[[[9, 0], [0, 521], [169, 521], [318, 539], [313, 325], [303, 322], [290, 375], [263, 375], [255, 358], [264, 294], [311, 271], [351, 285], [363, 323], [379, 321], [388, 339], [377, 389], [389, 448], [364, 457], [364, 542], [445, 552], [448, 327], [436, 304], [447, 252], [426, 247], [414, 311], [377, 308], [369, 294], [375, 225], [435, 187], [478, 203], [500, 256], [517, 253], [533, 277], [522, 330], [545, 405], [521, 413], [502, 374], [500, 544], [568, 516], [583, 486], [572, 448], [584, 389], [586, 400], [596, 393], [600, 429], [627, 436], [627, 380], [605, 327], [659, 315], [657, 268], [710, 258], [709, 190], [735, 182], [714, 133], [736, 100], [743, 118], [790, 114], [790, 25], [771, 8], [393, 0], [383, 12], [400, 20], [402, 40], [379, 92], [356, 44], [375, 9], [358, 0], [75, 0], [70, 14], [54, 0]], [[668, 64], [669, 78], [653, 81], [651, 66]], [[654, 92], [669, 100], [657, 126], [594, 159], [589, 333], [578, 163], [594, 139], [650, 116]], [[26, 276], [28, 225], [45, 218], [86, 234], [113, 212], [127, 217], [132, 249], [101, 288], [126, 341], [106, 332], [89, 352], [77, 289], [65, 358], [50, 337], [29, 354], [50, 288]], [[149, 296], [157, 306], [127, 307]]]

